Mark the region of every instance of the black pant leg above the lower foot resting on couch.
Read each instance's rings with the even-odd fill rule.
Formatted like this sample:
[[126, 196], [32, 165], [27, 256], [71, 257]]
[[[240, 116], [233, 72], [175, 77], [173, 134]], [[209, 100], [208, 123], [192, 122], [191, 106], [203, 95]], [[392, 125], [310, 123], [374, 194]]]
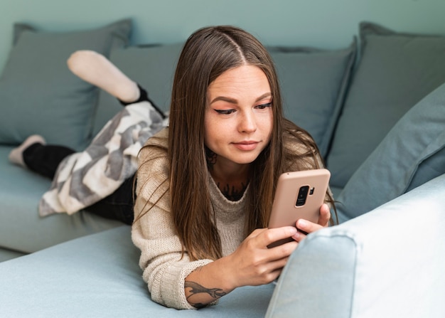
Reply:
[[23, 151], [23, 161], [31, 171], [53, 179], [60, 162], [74, 153], [64, 146], [31, 144]]

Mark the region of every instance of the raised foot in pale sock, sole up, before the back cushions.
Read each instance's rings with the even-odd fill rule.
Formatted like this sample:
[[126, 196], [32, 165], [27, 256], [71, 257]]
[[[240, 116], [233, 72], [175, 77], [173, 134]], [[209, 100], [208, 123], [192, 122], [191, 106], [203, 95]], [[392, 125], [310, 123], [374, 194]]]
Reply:
[[101, 88], [122, 102], [139, 99], [139, 88], [104, 55], [95, 51], [76, 51], [68, 58], [68, 68], [82, 80]]

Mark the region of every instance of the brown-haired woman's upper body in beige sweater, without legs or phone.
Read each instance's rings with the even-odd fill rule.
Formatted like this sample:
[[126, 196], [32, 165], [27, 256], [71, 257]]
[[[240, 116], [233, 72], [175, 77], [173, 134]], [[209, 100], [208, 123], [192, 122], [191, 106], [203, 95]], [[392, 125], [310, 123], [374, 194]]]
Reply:
[[193, 33], [178, 60], [169, 127], [139, 155], [132, 239], [152, 299], [200, 308], [275, 280], [304, 232], [331, 218], [323, 204], [318, 224], [268, 229], [277, 179], [322, 166], [309, 134], [283, 118], [262, 44], [230, 26]]

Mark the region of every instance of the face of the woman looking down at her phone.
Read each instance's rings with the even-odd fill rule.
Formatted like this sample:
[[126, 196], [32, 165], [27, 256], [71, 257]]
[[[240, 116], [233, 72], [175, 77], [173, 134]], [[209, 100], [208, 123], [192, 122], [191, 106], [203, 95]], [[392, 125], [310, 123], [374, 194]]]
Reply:
[[215, 165], [250, 164], [269, 144], [272, 125], [272, 93], [257, 66], [227, 70], [208, 86], [205, 145], [218, 154]]

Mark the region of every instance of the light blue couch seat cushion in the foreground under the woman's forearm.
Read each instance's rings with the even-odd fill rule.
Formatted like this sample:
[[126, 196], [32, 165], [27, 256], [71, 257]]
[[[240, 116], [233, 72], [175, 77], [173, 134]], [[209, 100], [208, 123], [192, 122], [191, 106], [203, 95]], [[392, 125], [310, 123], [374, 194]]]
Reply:
[[200, 310], [150, 298], [130, 227], [0, 263], [1, 317], [264, 317], [274, 285], [242, 287]]

